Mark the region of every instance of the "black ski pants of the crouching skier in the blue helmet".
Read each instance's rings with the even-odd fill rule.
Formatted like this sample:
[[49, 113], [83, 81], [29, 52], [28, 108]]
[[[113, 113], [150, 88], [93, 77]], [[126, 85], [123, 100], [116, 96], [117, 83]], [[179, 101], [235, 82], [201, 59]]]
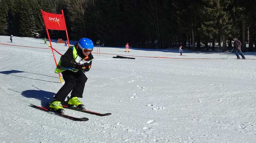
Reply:
[[61, 73], [65, 84], [54, 96], [54, 99], [63, 103], [71, 91], [71, 96], [82, 98], [84, 86], [88, 79], [83, 71], [79, 70], [77, 72], [73, 72], [71, 70], [65, 70]]

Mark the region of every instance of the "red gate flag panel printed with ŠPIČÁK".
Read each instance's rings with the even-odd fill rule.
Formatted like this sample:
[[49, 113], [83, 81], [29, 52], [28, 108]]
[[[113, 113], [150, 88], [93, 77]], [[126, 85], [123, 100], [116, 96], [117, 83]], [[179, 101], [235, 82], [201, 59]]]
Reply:
[[41, 10], [46, 29], [67, 30], [64, 14], [53, 14]]

